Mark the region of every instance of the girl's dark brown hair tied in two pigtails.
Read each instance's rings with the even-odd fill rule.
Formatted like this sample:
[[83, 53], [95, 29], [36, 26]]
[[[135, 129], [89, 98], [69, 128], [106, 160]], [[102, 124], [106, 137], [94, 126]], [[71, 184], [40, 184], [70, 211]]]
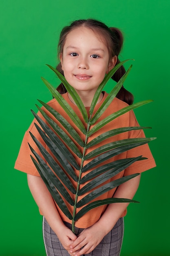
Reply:
[[[100, 22], [98, 20], [93, 19], [87, 19], [87, 20], [75, 20], [71, 23], [70, 26], [66, 26], [62, 29], [60, 34], [60, 39], [58, 43], [58, 57], [60, 56], [60, 53], [63, 52], [64, 44], [66, 41], [66, 36], [69, 32], [71, 32], [73, 29], [77, 27], [88, 27], [92, 29], [95, 33], [102, 36], [104, 39], [106, 46], [108, 48], [108, 54], [109, 54], [109, 61], [116, 55], [117, 56], [117, 63], [120, 63], [119, 61], [119, 53], [121, 52], [122, 46], [123, 46], [123, 35], [121, 31], [115, 27], [107, 27], [103, 22]], [[59, 63], [56, 67], [56, 69], [64, 75], [61, 63]], [[117, 72], [112, 76], [112, 79], [116, 82], [118, 82], [121, 77], [125, 74], [126, 70], [124, 66], [119, 67]], [[66, 92], [66, 88], [61, 83], [57, 87], [57, 91], [59, 91], [61, 94]], [[121, 99], [122, 101], [128, 103], [131, 105], [133, 103], [133, 95], [131, 92], [128, 92], [123, 86], [117, 93], [116, 97], [118, 99]]]

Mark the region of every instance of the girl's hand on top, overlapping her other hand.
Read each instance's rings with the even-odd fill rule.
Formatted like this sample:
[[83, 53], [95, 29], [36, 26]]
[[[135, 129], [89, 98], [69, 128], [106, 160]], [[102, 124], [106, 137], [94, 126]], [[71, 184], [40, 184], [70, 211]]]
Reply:
[[[84, 229], [78, 238], [71, 244], [70, 252], [74, 256], [88, 254], [102, 241], [106, 233], [98, 225], [94, 224]], [[82, 248], [83, 247], [83, 248]], [[81, 249], [82, 248], [82, 249]]]

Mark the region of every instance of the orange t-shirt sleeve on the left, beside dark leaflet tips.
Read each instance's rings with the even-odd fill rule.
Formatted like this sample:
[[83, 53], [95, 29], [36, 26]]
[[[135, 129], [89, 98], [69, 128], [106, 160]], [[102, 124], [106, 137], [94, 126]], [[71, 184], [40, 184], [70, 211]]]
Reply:
[[[44, 159], [44, 157], [40, 153], [40, 150], [38, 149], [35, 142], [33, 141], [29, 131], [35, 136], [36, 139], [38, 139], [38, 141], [42, 144], [42, 146], [44, 146], [44, 147], [46, 147], [46, 146], [45, 146], [45, 143], [44, 143], [42, 137], [40, 136], [38, 130], [36, 129], [34, 123], [37, 123], [37, 121], [35, 119], [31, 123], [31, 126], [29, 127], [29, 129], [25, 132], [25, 135], [22, 140], [22, 144], [20, 147], [18, 157], [15, 162], [14, 168], [19, 171], [22, 171], [24, 173], [28, 173], [28, 174], [31, 174], [34, 176], [40, 176], [40, 174], [38, 173], [32, 159], [30, 157], [30, 155], [32, 155], [35, 158], [35, 156], [31, 152], [29, 144], [35, 150], [35, 152], [38, 153], [38, 155], [40, 155], [42, 157], [42, 159]], [[36, 160], [36, 158], [35, 158], [35, 160]]]

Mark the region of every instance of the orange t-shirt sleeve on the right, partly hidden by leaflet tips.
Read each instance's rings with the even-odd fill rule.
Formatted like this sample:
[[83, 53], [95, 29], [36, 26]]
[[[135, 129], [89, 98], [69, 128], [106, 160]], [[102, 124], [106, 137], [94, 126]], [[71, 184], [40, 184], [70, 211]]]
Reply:
[[[139, 123], [137, 122], [137, 119], [133, 111], [130, 111], [129, 126], [139, 126]], [[145, 137], [145, 134], [143, 130], [133, 130], [129, 132], [129, 138], [144, 138], [144, 137]], [[147, 159], [136, 161], [135, 163], [131, 164], [128, 168], [125, 169], [124, 176], [134, 174], [134, 173], [142, 173], [156, 166], [155, 160], [152, 156], [152, 153], [150, 151], [148, 144], [144, 144], [127, 151], [127, 158], [138, 157], [140, 155], [142, 157], [146, 157]]]

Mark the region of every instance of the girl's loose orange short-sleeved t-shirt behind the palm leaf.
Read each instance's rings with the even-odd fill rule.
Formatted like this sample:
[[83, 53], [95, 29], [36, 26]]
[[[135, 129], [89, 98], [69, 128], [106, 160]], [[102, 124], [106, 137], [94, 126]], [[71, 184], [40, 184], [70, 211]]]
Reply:
[[[106, 99], [107, 95], [108, 94], [106, 92], [104, 92], [104, 97], [103, 97], [102, 101], [100, 101], [95, 106], [94, 113], [102, 105], [102, 103]], [[75, 113], [77, 114], [79, 119], [82, 121], [82, 123], [86, 127], [86, 123], [84, 122], [84, 119], [82, 117], [81, 112], [79, 111], [77, 106], [70, 101], [70, 99], [68, 98], [68, 93], [63, 94], [62, 96], [69, 103], [69, 105], [73, 108], [73, 110], [75, 111]], [[55, 99], [52, 99], [47, 104], [49, 106], [51, 106], [52, 108], [54, 108], [55, 110], [57, 110], [57, 112], [59, 112], [71, 124], [71, 126], [73, 126], [73, 128], [77, 131], [79, 136], [84, 141], [85, 135], [77, 128], [77, 126], [75, 126], [73, 121], [68, 117], [66, 112], [64, 112], [64, 110], [61, 108], [60, 104]], [[95, 125], [99, 121], [104, 119], [105, 117], [107, 117], [110, 114], [112, 114], [113, 112], [116, 112], [116, 111], [118, 111], [118, 110], [120, 110], [120, 109], [122, 109], [122, 108], [124, 108], [126, 106], [128, 106], [128, 105], [125, 102], [115, 98], [113, 100], [113, 102], [110, 103], [108, 108], [105, 110], [104, 114], [97, 120]], [[48, 113], [49, 117], [51, 117], [53, 120], [55, 119], [53, 117], [53, 115], [51, 115], [47, 110], [44, 109], [44, 107], [42, 109], [44, 110], [44, 112]], [[87, 112], [89, 112], [89, 108], [86, 108], [86, 110], [87, 110]], [[40, 112], [38, 113], [38, 115], [44, 120], [44, 118], [42, 117]], [[56, 119], [55, 119], [55, 122], [59, 126], [61, 126], [60, 123]], [[23, 138], [23, 141], [22, 141], [22, 144], [21, 144], [21, 147], [20, 147], [20, 152], [19, 152], [18, 158], [17, 158], [17, 160], [15, 162], [15, 168], [20, 170], [20, 171], [23, 171], [25, 173], [29, 173], [31, 175], [40, 176], [38, 171], [37, 171], [37, 169], [35, 168], [35, 165], [33, 164], [32, 160], [31, 160], [30, 155], [33, 155], [33, 154], [31, 153], [31, 150], [29, 148], [28, 142], [33, 147], [33, 149], [41, 157], [42, 157], [42, 155], [40, 153], [40, 150], [38, 149], [38, 147], [34, 143], [33, 139], [31, 138], [31, 136], [29, 134], [29, 131], [31, 131], [33, 133], [33, 135], [38, 139], [38, 141], [40, 141], [40, 143], [46, 148], [46, 150], [49, 151], [49, 153], [50, 153], [50, 150], [46, 146], [46, 144], [44, 143], [42, 137], [39, 135], [39, 132], [35, 128], [34, 123], [38, 124], [38, 122], [34, 119], [33, 122], [31, 123], [31, 126], [29, 127], [29, 129], [26, 131], [26, 133], [24, 135], [24, 138]], [[104, 132], [106, 132], [108, 130], [112, 130], [112, 129], [116, 129], [116, 128], [121, 128], [121, 127], [128, 127], [128, 126], [139, 126], [133, 111], [130, 111], [130, 112], [124, 114], [124, 115], [121, 115], [120, 117], [117, 117], [116, 119], [111, 121], [109, 124], [105, 125], [101, 129], [99, 129], [97, 132], [95, 132], [93, 135], [91, 135], [91, 137], [89, 137], [88, 142], [91, 141], [92, 139], [94, 139], [95, 137], [103, 134]], [[62, 129], [67, 133], [68, 136], [70, 136], [69, 133], [65, 130], [65, 128], [62, 127]], [[89, 152], [91, 152], [95, 148], [98, 148], [99, 146], [102, 146], [102, 145], [104, 145], [106, 143], [110, 143], [110, 142], [121, 140], [121, 139], [141, 138], [141, 137], [145, 137], [143, 130], [132, 130], [130, 132], [120, 133], [118, 135], [115, 135], [113, 137], [110, 137], [110, 138], [102, 141], [100, 144], [97, 144], [95, 146], [92, 146], [91, 148], [88, 148], [86, 150], [86, 154], [88, 154]], [[75, 142], [76, 146], [79, 148], [79, 150], [82, 151], [82, 148], [80, 148], [80, 146], [77, 144], [77, 142], [76, 141], [74, 141], [74, 142]], [[80, 165], [81, 164], [81, 162], [80, 162], [81, 159], [79, 159], [73, 152], [72, 152], [72, 154], [75, 157], [75, 160], [77, 161], [77, 163]], [[111, 159], [105, 161], [104, 164], [107, 164], [108, 162], [113, 162], [113, 161], [116, 161], [116, 160], [119, 160], [119, 159], [125, 159], [125, 158], [130, 158], [130, 157], [137, 157], [137, 156], [140, 156], [140, 155], [142, 155], [143, 157], [147, 157], [148, 159], [145, 159], [145, 160], [142, 160], [142, 161], [137, 161], [137, 162], [131, 164], [128, 168], [126, 168], [124, 171], [121, 171], [120, 173], [118, 173], [115, 177], [111, 178], [106, 183], [111, 182], [111, 181], [116, 180], [116, 179], [119, 179], [120, 177], [123, 177], [123, 176], [126, 176], [126, 175], [130, 175], [130, 174], [134, 174], [134, 173], [141, 173], [143, 171], [146, 171], [146, 170], [148, 170], [150, 168], [155, 167], [155, 161], [154, 161], [154, 159], [152, 157], [152, 154], [150, 152], [148, 144], [144, 144], [142, 146], [138, 146], [136, 148], [133, 148], [133, 149], [130, 149], [130, 150], [126, 151], [126, 152], [123, 152], [123, 153], [121, 153], [119, 155], [116, 155], [116, 156], [112, 157]], [[90, 162], [91, 160], [92, 159], [88, 159], [88, 160], [84, 161], [84, 166], [88, 162]], [[99, 165], [95, 166], [94, 168], [97, 168], [97, 167], [99, 167]], [[92, 168], [90, 171], [92, 171], [94, 168]], [[77, 171], [77, 170], [74, 170], [74, 171], [75, 171], [76, 175], [78, 176], [79, 175], [79, 171]], [[86, 171], [86, 172], [82, 173], [82, 177], [84, 177], [84, 175], [86, 175], [90, 171]], [[73, 181], [73, 185], [76, 188], [76, 182]], [[80, 189], [84, 185], [86, 185], [86, 183], [85, 184], [81, 184], [80, 185]], [[115, 190], [116, 190], [116, 188], [115, 189], [111, 189], [110, 191], [108, 191], [108, 192], [104, 193], [103, 195], [99, 196], [96, 200], [102, 200], [102, 199], [105, 199], [105, 198], [112, 198], [114, 193], [115, 193]], [[75, 195], [72, 194], [70, 191], [69, 191], [69, 193], [70, 193], [71, 197], [74, 199]], [[84, 196], [86, 196], [86, 194], [79, 196], [78, 201], [81, 200]], [[69, 211], [71, 213], [73, 213], [73, 207], [71, 205], [69, 205], [66, 200], [64, 200], [64, 202], [66, 203]], [[57, 206], [56, 202], [55, 202], [55, 204], [56, 204], [57, 211], [60, 213], [60, 216], [61, 216], [62, 220], [71, 223], [71, 220], [69, 220], [64, 215], [64, 213], [61, 211], [61, 209]], [[82, 216], [82, 218], [80, 218], [79, 220], [76, 221], [75, 226], [79, 227], [79, 228], [90, 227], [95, 222], [97, 222], [97, 220], [99, 220], [100, 216], [102, 215], [102, 213], [104, 213], [106, 208], [107, 208], [107, 205], [103, 205], [103, 206], [100, 206], [100, 207], [97, 207], [95, 209], [92, 209], [92, 210], [88, 211], [84, 216]], [[81, 209], [81, 207], [77, 209], [77, 212], [80, 209]], [[126, 215], [126, 211], [124, 211], [124, 213], [122, 214], [121, 217]]]

